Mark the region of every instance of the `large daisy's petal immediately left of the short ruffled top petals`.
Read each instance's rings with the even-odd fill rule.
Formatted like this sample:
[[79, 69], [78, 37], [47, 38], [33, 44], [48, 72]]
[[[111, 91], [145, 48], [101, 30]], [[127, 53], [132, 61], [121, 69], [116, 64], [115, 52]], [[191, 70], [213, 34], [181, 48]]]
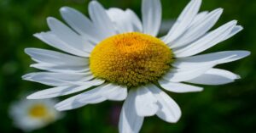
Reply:
[[102, 31], [105, 37], [115, 35], [113, 23], [100, 3], [91, 1], [89, 3], [89, 14], [93, 24]]

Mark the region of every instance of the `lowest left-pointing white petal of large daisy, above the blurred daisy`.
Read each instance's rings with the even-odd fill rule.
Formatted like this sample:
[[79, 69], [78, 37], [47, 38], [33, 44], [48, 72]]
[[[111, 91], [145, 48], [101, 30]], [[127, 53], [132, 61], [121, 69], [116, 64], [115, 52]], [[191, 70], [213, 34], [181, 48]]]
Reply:
[[102, 86], [98, 86], [90, 91], [85, 91], [74, 97], [70, 97], [61, 103], [57, 103], [55, 108], [59, 111], [70, 110], [74, 108], [80, 108], [86, 104], [102, 103], [107, 99], [101, 96]]

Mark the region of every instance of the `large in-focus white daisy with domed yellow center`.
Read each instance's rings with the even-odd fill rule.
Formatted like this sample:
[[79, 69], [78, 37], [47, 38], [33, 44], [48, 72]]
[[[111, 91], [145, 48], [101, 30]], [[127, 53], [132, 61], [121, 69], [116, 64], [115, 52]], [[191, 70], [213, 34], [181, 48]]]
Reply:
[[[142, 21], [131, 10], [105, 9], [89, 3], [90, 19], [73, 8], [61, 8], [67, 25], [49, 17], [49, 31], [35, 34], [43, 42], [65, 53], [27, 48], [46, 72], [24, 75], [53, 86], [28, 99], [60, 97], [83, 91], [57, 103], [58, 110], [80, 108], [106, 100], [125, 100], [119, 116], [119, 132], [138, 132], [143, 119], [157, 115], [176, 123], [181, 110], [165, 91], [202, 91], [201, 85], [222, 85], [240, 77], [218, 64], [249, 55], [247, 51], [202, 53], [242, 30], [236, 20], [212, 26], [223, 12], [217, 8], [199, 13], [201, 0], [191, 0], [166, 36], [157, 37], [161, 24], [160, 0], [143, 0]], [[189, 84], [187, 84], [189, 83]]]

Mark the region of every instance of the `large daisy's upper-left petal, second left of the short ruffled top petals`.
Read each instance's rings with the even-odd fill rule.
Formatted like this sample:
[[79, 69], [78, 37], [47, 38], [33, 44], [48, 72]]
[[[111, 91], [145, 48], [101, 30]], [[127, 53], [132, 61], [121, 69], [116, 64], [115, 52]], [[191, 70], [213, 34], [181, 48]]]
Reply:
[[89, 39], [92, 42], [101, 42], [104, 39], [104, 35], [84, 14], [81, 14], [78, 10], [69, 7], [61, 8], [61, 16], [66, 20], [73, 30], [76, 30], [79, 35]]

